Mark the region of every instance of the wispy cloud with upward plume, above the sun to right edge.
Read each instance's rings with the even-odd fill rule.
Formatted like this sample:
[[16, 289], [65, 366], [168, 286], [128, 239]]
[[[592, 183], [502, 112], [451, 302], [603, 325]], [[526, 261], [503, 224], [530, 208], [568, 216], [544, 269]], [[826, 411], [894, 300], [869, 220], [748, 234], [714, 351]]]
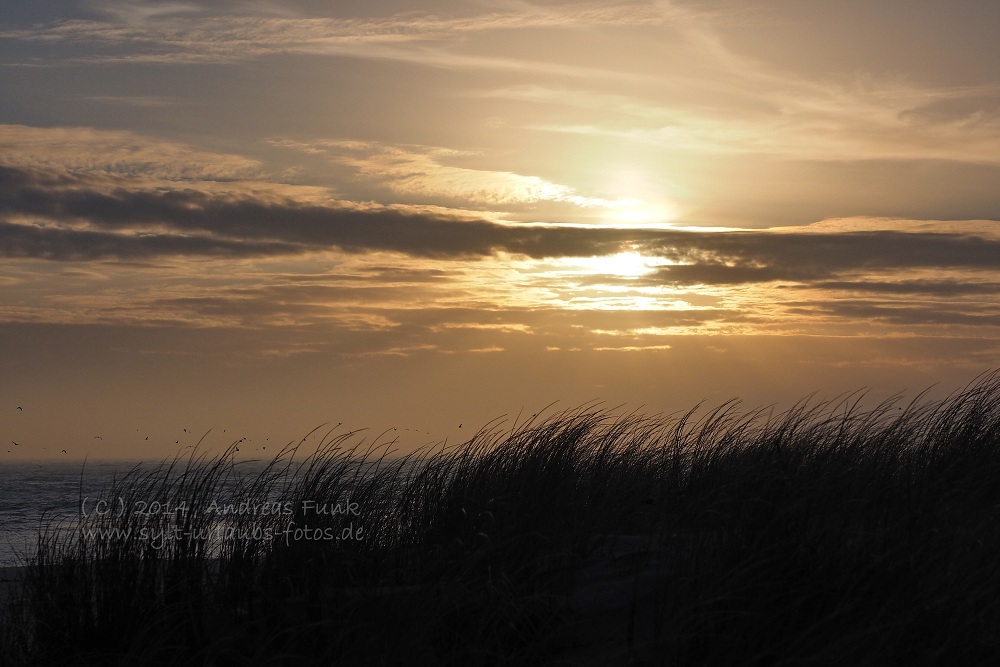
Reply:
[[[630, 142], [711, 155], [804, 160], [960, 160], [996, 164], [1000, 85], [910, 81], [824, 67], [811, 76], [741, 52], [705, 13], [676, 15], [655, 82], [612, 92], [542, 83], [538, 78], [472, 94], [555, 105], [558, 114], [527, 123], [534, 131]], [[758, 26], [759, 27], [759, 26]], [[662, 31], [661, 31], [662, 32]], [[641, 37], [622, 43], [637, 51]], [[684, 67], [662, 67], [661, 61]], [[623, 73], [647, 74], [618, 67]], [[652, 72], [650, 72], [652, 74]]]

